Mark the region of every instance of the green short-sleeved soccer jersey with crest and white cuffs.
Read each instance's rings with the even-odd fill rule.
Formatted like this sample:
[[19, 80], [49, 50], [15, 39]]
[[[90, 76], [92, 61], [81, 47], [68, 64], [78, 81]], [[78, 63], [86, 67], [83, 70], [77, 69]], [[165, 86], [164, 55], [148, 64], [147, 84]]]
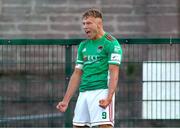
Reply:
[[121, 59], [121, 46], [110, 34], [81, 42], [76, 60], [77, 68], [83, 71], [80, 92], [107, 89], [109, 64], [120, 65]]

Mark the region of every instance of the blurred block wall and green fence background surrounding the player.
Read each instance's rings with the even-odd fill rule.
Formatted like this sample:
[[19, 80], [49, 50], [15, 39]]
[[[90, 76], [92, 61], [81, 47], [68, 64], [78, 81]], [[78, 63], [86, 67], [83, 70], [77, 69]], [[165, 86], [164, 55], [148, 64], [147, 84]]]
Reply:
[[179, 0], [0, 0], [0, 127], [72, 127], [56, 110], [92, 7], [123, 50], [115, 127], [180, 127]]

